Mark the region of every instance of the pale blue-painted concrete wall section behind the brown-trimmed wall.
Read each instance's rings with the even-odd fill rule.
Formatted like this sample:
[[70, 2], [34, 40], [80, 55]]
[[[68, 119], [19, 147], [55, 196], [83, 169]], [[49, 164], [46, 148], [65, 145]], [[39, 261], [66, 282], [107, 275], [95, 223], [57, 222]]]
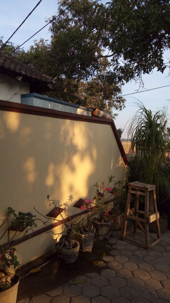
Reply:
[[86, 108], [83, 106], [79, 106], [73, 103], [65, 102], [36, 93], [21, 95], [21, 103], [85, 116], [91, 116], [91, 113], [93, 112], [93, 110], [90, 108]]

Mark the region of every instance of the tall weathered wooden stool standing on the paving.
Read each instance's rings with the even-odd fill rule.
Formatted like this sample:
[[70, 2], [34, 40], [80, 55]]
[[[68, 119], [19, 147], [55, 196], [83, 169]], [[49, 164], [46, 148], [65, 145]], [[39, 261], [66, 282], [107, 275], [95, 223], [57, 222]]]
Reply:
[[[128, 196], [127, 196], [126, 211], [125, 211], [125, 215], [124, 215], [123, 231], [122, 231], [121, 238], [126, 239], [129, 242], [132, 242], [134, 244], [137, 244], [142, 248], [149, 249], [161, 240], [161, 233], [160, 233], [160, 228], [159, 228], [159, 212], [157, 210], [156, 195], [155, 195], [156, 186], [141, 183], [138, 181], [129, 183], [128, 186], [129, 186], [129, 191], [128, 191]], [[151, 194], [152, 194], [154, 214], [149, 213], [149, 191], [151, 191]], [[129, 209], [132, 194], [136, 195], [135, 196], [135, 207], [132, 209]], [[138, 209], [139, 208], [139, 195], [145, 196], [145, 211], [140, 211]], [[144, 215], [144, 219], [138, 218], [138, 214]], [[127, 226], [128, 219], [134, 220], [134, 229], [126, 232], [126, 226]], [[157, 231], [158, 239], [149, 245], [149, 223], [151, 223], [153, 221], [156, 221], [156, 231]], [[139, 222], [144, 223], [145, 229], [142, 227], [142, 225]], [[136, 229], [138, 226], [140, 229], [142, 229], [142, 231], [145, 234], [145, 244], [126, 237], [131, 232], [136, 233]]]

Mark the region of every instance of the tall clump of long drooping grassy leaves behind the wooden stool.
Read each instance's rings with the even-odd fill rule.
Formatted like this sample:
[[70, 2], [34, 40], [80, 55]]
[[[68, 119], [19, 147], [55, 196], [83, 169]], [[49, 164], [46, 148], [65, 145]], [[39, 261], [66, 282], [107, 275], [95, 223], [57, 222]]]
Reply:
[[165, 165], [166, 112], [159, 110], [153, 114], [142, 103], [138, 106], [128, 128], [131, 177], [133, 181], [156, 185], [157, 201], [162, 201], [170, 191], [170, 175]]

